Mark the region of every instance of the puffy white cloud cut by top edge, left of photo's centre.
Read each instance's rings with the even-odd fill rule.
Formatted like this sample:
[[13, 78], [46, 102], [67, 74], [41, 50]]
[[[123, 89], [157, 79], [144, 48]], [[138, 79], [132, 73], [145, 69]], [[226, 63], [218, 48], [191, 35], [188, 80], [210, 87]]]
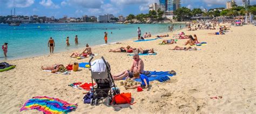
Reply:
[[83, 8], [99, 9], [104, 4], [103, 0], [67, 0], [71, 5], [82, 6]]

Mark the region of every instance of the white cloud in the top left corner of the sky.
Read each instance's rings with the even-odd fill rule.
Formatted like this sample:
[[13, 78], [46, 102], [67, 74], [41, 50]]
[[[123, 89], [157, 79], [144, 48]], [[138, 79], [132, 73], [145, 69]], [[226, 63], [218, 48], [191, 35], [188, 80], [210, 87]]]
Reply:
[[9, 0], [9, 1], [0, 0], [0, 1], [2, 1], [2, 3], [5, 3], [8, 6], [8, 8], [12, 8], [12, 7], [26, 8], [35, 2], [35, 0]]

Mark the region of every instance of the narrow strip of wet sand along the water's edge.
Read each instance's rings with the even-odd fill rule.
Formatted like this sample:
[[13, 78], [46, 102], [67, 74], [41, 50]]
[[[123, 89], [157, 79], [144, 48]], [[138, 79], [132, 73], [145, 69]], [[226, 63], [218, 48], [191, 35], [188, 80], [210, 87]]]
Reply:
[[[177, 24], [179, 24], [179, 23], [177, 23]], [[181, 23], [181, 24], [183, 24], [183, 23]], [[186, 29], [186, 28], [181, 28], [181, 30], [184, 30], [184, 29]], [[181, 30], [175, 30], [175, 31], [173, 31], [173, 32], [177, 32], [177, 31], [181, 31]], [[152, 35], [152, 37], [150, 37], [150, 38], [146, 38], [146, 39], [152, 39], [152, 38], [156, 38], [156, 36], [157, 35], [159, 35], [159, 34], [168, 34], [169, 32], [163, 32], [163, 33], [157, 33], [157, 34], [151, 34]], [[172, 35], [172, 34], [171, 34]], [[134, 39], [137, 39], [136, 37], [134, 37], [134, 38], [129, 38], [129, 39], [126, 39], [126, 40], [120, 40], [120, 41], [115, 41], [115, 42], [111, 42], [111, 43], [109, 43], [109, 44], [99, 44], [99, 45], [92, 45], [92, 46], [90, 46], [92, 49], [93, 48], [99, 48], [99, 47], [103, 47], [103, 46], [107, 46], [107, 45], [114, 45], [114, 44], [116, 44], [116, 42], [121, 42], [121, 43], [124, 43], [124, 42], [128, 42], [128, 41], [132, 41], [132, 40], [134, 40]], [[80, 44], [81, 45], [81, 44]], [[61, 53], [72, 53], [72, 52], [77, 52], [78, 50], [79, 51], [81, 51], [81, 50], [83, 50], [83, 49], [85, 49], [86, 48], [86, 46], [84, 46], [84, 47], [79, 47], [79, 48], [73, 48], [73, 49], [70, 49], [70, 50], [65, 50], [65, 51], [60, 51], [60, 52], [55, 52], [54, 54], [61, 54]], [[49, 47], [48, 47], [48, 49], [49, 49]], [[54, 54], [41, 54], [41, 55], [31, 55], [31, 56], [24, 56], [24, 57], [21, 57], [21, 58], [15, 58], [15, 57], [12, 57], [12, 58], [15, 58], [15, 59], [7, 59], [7, 60], [0, 60], [0, 62], [7, 62], [7, 61], [15, 61], [15, 60], [22, 60], [22, 59], [32, 59], [32, 58], [37, 58], [37, 57], [40, 57], [40, 56], [49, 56], [49, 55], [54, 55]]]

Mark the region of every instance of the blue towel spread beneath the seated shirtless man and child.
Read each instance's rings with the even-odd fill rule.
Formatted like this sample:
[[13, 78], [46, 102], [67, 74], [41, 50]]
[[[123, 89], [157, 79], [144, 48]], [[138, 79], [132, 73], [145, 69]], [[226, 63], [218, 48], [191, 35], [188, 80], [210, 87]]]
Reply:
[[[144, 74], [140, 74], [144, 75]], [[173, 76], [172, 74], [169, 74], [168, 72], [150, 72], [149, 75], [146, 75], [149, 78], [149, 81], [157, 80], [159, 82], [165, 82], [167, 80], [170, 80], [169, 76]], [[125, 80], [125, 78], [123, 79]], [[142, 82], [140, 79], [134, 79], [137, 82]]]

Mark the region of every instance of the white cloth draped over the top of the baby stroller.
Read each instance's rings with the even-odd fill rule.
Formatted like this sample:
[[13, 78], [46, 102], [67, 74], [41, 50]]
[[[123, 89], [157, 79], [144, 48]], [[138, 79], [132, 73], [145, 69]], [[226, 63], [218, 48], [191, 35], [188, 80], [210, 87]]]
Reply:
[[102, 59], [97, 59], [91, 62], [91, 70], [92, 72], [102, 73], [102, 72], [105, 72], [106, 65]]

